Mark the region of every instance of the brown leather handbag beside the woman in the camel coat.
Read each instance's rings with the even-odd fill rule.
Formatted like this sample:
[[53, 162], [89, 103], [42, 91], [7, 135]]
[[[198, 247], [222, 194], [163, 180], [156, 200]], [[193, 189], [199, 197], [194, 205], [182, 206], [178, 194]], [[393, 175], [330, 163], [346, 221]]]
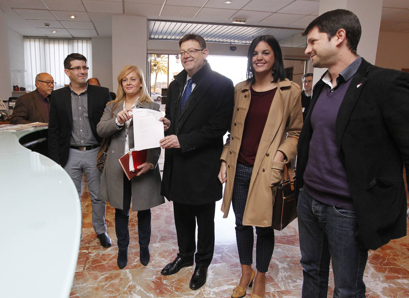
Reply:
[[[281, 231], [297, 218], [297, 200], [295, 199], [294, 181], [291, 164], [284, 166], [285, 181], [276, 188], [273, 204], [273, 218], [271, 228]], [[288, 178], [288, 179], [287, 179]]]

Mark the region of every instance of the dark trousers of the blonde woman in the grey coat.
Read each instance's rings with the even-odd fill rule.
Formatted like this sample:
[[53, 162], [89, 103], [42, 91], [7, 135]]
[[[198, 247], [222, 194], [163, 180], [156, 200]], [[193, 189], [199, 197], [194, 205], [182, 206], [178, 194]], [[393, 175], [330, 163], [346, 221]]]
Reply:
[[[124, 175], [124, 209], [115, 208], [115, 232], [118, 249], [125, 250], [129, 245], [129, 209], [132, 195], [131, 181]], [[138, 211], [139, 246], [148, 247], [151, 241], [151, 209]]]

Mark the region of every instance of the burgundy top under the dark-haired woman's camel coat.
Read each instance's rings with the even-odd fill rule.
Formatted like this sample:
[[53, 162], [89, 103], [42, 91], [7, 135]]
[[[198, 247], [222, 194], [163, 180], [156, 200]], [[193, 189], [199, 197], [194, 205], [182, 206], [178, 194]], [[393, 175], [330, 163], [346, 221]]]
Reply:
[[263, 134], [268, 112], [276, 94], [277, 88], [272, 90], [257, 92], [253, 88], [249, 110], [244, 122], [243, 136], [241, 138], [240, 151], [237, 162], [246, 166], [253, 166], [256, 159], [258, 144]]

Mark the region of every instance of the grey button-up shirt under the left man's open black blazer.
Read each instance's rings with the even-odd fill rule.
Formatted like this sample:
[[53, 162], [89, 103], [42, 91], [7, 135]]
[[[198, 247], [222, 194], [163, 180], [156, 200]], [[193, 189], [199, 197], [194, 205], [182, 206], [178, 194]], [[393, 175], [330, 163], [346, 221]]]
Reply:
[[[87, 84], [88, 88], [88, 84]], [[98, 145], [91, 130], [88, 119], [88, 93], [87, 90], [81, 94], [76, 94], [71, 90], [71, 108], [72, 108], [72, 130], [71, 146], [92, 146]]]

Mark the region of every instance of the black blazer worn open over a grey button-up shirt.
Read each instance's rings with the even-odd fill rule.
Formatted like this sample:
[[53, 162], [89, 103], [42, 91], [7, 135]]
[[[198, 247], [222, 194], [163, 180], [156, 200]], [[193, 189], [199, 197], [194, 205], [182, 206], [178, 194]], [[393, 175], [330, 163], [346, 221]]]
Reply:
[[[88, 119], [92, 134], [98, 143], [102, 138], [97, 134], [97, 124], [102, 117], [105, 105], [111, 100], [109, 89], [88, 85]], [[70, 87], [63, 87], [51, 92], [48, 124], [49, 157], [57, 164], [65, 166], [68, 159], [72, 130], [72, 106]], [[95, 161], [96, 166], [97, 161]]]

